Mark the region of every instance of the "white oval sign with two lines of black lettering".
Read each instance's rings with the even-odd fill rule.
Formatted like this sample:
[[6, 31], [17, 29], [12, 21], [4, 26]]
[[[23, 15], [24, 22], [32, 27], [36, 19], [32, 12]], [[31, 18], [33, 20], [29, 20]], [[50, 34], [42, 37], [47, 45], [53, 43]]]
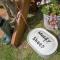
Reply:
[[29, 32], [27, 40], [39, 55], [51, 55], [58, 47], [57, 39], [43, 28], [33, 29]]

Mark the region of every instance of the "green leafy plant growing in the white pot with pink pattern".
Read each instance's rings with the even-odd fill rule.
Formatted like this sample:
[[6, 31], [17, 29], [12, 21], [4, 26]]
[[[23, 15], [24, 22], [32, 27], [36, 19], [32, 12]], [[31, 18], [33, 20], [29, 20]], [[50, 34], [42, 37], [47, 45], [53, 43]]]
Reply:
[[41, 11], [43, 14], [54, 13], [60, 15], [60, 6], [58, 4], [44, 5]]

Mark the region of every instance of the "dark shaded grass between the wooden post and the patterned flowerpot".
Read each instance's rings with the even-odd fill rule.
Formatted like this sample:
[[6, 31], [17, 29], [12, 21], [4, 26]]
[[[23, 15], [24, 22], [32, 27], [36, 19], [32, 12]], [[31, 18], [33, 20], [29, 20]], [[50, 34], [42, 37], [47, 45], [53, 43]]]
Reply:
[[33, 17], [27, 19], [27, 23], [31, 28], [34, 28], [34, 26], [36, 26], [40, 23], [41, 20], [43, 20], [43, 13], [41, 12], [41, 8], [42, 7], [38, 9], [38, 11], [34, 14]]

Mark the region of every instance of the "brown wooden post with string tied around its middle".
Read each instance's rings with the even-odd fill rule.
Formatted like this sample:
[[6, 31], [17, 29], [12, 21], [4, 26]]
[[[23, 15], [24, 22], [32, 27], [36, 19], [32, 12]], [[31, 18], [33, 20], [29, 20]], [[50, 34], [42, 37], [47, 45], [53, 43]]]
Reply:
[[[27, 14], [29, 11], [30, 0], [22, 0], [22, 1], [23, 1], [22, 5], [21, 5], [22, 6], [22, 14], [26, 20]], [[24, 22], [24, 19], [21, 17], [19, 20], [19, 24], [17, 24], [16, 31], [13, 33], [13, 36], [12, 36], [12, 41], [11, 41], [12, 45], [17, 47], [21, 44], [25, 29], [26, 29], [26, 24]]]

